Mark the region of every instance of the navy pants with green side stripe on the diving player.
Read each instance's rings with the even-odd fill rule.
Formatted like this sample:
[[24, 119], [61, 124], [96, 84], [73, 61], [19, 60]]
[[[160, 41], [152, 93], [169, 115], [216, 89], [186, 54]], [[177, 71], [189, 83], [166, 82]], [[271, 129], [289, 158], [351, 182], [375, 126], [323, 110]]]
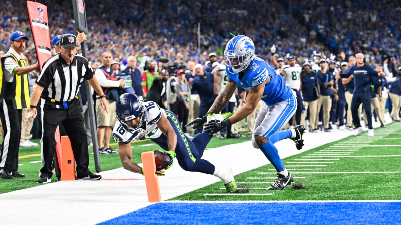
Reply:
[[[185, 171], [201, 172], [213, 174], [215, 166], [205, 159], [201, 159], [206, 145], [209, 143], [212, 136], [209, 133], [198, 133], [192, 141], [188, 139], [181, 129], [180, 122], [176, 115], [169, 110], [166, 110], [166, 116], [171, 126], [177, 135], [177, 145], [175, 149], [176, 161]], [[160, 137], [151, 139], [154, 143], [158, 144], [165, 151], [169, 151], [167, 144], [167, 136], [162, 134]]]

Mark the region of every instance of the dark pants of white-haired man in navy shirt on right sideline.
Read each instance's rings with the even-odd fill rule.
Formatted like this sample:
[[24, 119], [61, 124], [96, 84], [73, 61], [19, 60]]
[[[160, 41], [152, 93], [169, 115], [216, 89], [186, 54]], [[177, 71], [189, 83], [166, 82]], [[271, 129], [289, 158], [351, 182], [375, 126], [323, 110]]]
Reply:
[[360, 118], [358, 116], [358, 108], [359, 108], [359, 105], [362, 103], [362, 108], [366, 112], [366, 115], [364, 116], [365, 120], [368, 120], [368, 128], [373, 129], [371, 102], [372, 102], [372, 94], [370, 91], [366, 91], [364, 93], [354, 92], [354, 95], [352, 95], [351, 113], [352, 113], [352, 123], [354, 123], [355, 128], [360, 127]]

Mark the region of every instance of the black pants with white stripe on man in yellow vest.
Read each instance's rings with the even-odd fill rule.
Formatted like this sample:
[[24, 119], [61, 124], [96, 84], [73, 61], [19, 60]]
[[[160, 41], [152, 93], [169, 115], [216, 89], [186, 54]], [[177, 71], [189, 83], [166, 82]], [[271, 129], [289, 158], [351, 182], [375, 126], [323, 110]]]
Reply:
[[0, 167], [16, 171], [21, 140], [22, 109], [15, 109], [12, 100], [3, 99], [0, 105], [0, 117], [4, 130]]

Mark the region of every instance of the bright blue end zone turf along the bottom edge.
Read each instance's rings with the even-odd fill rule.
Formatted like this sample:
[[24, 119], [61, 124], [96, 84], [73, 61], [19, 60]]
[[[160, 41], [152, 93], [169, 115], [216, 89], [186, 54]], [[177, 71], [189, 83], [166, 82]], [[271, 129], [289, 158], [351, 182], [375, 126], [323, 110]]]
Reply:
[[400, 224], [401, 202], [157, 203], [99, 223]]

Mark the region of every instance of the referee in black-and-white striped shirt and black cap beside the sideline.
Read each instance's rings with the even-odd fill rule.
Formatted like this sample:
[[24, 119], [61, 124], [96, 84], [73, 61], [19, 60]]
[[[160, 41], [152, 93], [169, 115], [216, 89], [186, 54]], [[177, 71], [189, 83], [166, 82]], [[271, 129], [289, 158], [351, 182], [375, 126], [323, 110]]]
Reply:
[[[77, 55], [77, 37], [73, 34], [63, 34], [60, 38], [61, 52], [55, 54], [43, 65], [43, 70], [31, 96], [29, 112], [25, 117], [36, 117], [36, 104], [39, 98], [42, 110], [42, 169], [37, 183], [49, 183], [53, 175], [51, 163], [55, 153], [56, 141], [54, 133], [61, 123], [71, 140], [71, 147], [77, 164], [78, 180], [100, 180], [100, 175], [91, 173], [88, 169], [88, 141], [79, 108], [77, 93], [83, 79], [101, 96], [100, 104], [106, 110], [105, 95], [89, 62]], [[106, 110], [107, 112], [107, 110]]]

